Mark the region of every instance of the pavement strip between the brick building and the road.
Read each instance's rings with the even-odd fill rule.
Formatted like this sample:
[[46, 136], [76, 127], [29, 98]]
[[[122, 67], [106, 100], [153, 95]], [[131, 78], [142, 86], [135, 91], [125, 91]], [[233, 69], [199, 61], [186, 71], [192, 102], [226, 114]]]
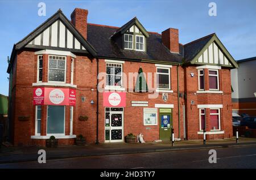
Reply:
[[246, 147], [255, 146], [256, 138], [240, 137], [238, 143], [236, 138], [207, 140], [204, 145], [203, 140], [180, 140], [171, 147], [171, 142], [147, 142], [147, 143], [100, 143], [87, 144], [83, 146], [69, 145], [59, 146], [56, 148], [46, 147], [5, 147], [2, 145], [0, 149], [0, 164], [7, 162], [25, 162], [37, 161], [39, 149], [46, 150], [47, 160], [87, 157], [87, 156], [104, 156], [104, 155], [124, 155], [133, 153], [148, 152], [168, 152], [168, 151], [184, 151], [192, 149], [215, 149], [230, 147]]

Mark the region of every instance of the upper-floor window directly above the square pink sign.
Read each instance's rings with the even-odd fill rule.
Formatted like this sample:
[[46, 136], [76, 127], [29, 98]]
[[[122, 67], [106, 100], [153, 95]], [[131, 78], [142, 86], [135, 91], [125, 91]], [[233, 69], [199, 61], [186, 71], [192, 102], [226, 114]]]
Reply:
[[122, 64], [106, 63], [106, 86], [122, 86]]

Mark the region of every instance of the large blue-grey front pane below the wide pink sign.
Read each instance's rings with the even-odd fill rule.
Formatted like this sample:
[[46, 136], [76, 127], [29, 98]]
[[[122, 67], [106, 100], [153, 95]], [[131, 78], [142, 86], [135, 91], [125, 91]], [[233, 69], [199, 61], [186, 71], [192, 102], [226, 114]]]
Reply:
[[65, 106], [47, 106], [47, 135], [65, 135]]

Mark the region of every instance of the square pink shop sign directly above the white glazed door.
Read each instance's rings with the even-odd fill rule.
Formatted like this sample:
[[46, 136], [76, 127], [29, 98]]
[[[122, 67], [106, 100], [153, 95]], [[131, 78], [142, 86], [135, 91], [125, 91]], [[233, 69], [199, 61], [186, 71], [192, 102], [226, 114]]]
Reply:
[[125, 107], [126, 93], [125, 92], [104, 92], [103, 105], [104, 107]]

